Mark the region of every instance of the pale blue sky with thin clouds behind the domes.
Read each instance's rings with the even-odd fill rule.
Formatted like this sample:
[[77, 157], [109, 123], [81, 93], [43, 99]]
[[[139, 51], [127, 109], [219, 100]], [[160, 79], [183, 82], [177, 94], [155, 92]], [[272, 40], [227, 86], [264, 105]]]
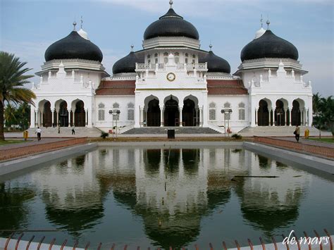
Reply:
[[[144, 31], [166, 13], [169, 0], [0, 0], [0, 50], [27, 62], [35, 74], [44, 52], [73, 30], [82, 16], [83, 29], [112, 66], [130, 52], [142, 49]], [[174, 0], [173, 8], [199, 32], [201, 49], [212, 42], [216, 55], [235, 73], [240, 51], [254, 39], [261, 15], [271, 31], [294, 44], [303, 69], [309, 71], [313, 92], [334, 95], [334, 1], [330, 0]], [[38, 77], [32, 78], [38, 82]]]

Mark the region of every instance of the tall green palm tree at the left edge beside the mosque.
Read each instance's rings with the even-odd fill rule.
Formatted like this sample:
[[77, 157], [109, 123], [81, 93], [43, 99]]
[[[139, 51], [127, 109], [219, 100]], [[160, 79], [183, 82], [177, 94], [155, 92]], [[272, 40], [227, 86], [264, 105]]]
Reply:
[[23, 68], [20, 58], [0, 51], [0, 140], [4, 140], [4, 104], [34, 104], [36, 96], [32, 90], [24, 87], [32, 75], [23, 75], [30, 68]]

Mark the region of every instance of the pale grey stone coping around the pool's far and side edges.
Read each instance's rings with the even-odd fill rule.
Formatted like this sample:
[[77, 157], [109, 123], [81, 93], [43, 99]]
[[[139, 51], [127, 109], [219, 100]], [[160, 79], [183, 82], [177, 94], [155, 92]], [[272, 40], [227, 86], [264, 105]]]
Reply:
[[330, 161], [325, 158], [317, 156], [310, 156], [309, 154], [302, 154], [296, 151], [289, 151], [286, 149], [278, 149], [273, 146], [267, 146], [264, 144], [258, 144], [254, 142], [94, 142], [89, 144], [80, 144], [77, 146], [69, 146], [63, 149], [55, 151], [49, 151], [42, 154], [35, 154], [27, 156], [25, 158], [18, 158], [13, 161], [6, 161], [0, 163], [0, 176], [9, 173], [14, 173], [25, 168], [54, 161], [58, 158], [71, 156], [74, 154], [82, 153], [97, 149], [98, 147], [108, 146], [240, 146], [250, 151], [254, 151], [257, 154], [262, 154], [273, 158], [276, 161], [280, 161], [286, 164], [294, 164], [300, 168], [307, 168], [308, 170], [316, 170], [321, 173], [334, 174], [334, 161]]

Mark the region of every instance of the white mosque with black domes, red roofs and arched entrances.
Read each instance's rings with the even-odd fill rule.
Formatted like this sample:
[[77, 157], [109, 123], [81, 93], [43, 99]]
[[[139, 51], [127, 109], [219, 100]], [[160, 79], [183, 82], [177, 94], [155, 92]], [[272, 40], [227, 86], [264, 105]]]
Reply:
[[[297, 48], [268, 28], [240, 54], [237, 72], [200, 49], [199, 32], [173, 1], [144, 31], [142, 50], [114, 63], [112, 75], [87, 32], [74, 29], [45, 51], [30, 127], [245, 127], [312, 124], [311, 82]], [[241, 48], [240, 48], [241, 49]]]

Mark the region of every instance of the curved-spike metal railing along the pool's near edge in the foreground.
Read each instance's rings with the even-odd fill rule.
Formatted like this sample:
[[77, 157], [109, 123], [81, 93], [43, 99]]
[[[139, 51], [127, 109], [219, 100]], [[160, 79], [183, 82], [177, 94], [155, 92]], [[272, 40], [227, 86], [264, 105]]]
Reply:
[[[333, 250], [333, 239], [330, 236], [330, 233], [328, 232], [328, 230], [324, 229], [323, 230], [326, 234], [326, 236], [321, 237], [318, 232], [316, 232], [316, 230], [314, 230], [314, 237], [309, 237], [309, 235], [307, 234], [307, 232], [303, 232], [303, 236], [302, 237], [297, 237], [297, 235], [295, 234], [294, 231], [292, 231], [290, 233], [290, 235], [288, 237], [285, 237], [285, 235], [282, 235], [282, 239], [283, 242], [277, 242], [276, 238], [271, 236], [271, 242], [272, 243], [265, 243], [264, 239], [262, 239], [262, 237], [259, 237], [259, 243], [260, 245], [254, 245], [253, 242], [248, 238], [247, 239], [247, 244], [249, 246], [250, 250], [253, 249], [262, 249], [262, 250], [266, 250], [266, 249], [275, 249], [275, 250], [283, 250], [283, 249], [287, 249], [289, 250], [290, 247], [292, 249], [298, 249], [298, 250], [302, 250], [302, 249], [309, 249], [311, 250], [312, 248], [316, 248], [318, 249], [318, 247], [322, 250], [322, 249], [330, 249]], [[6, 243], [4, 244], [4, 246], [0, 245], [0, 249], [4, 249], [4, 250], [9, 250], [9, 249], [18, 249], [18, 246], [20, 244], [20, 249], [49, 249], [51, 250], [53, 247], [54, 249], [78, 249], [78, 245], [79, 242], [78, 240], [75, 240], [73, 245], [67, 245], [68, 239], [65, 239], [61, 242], [58, 241], [58, 244], [61, 245], [56, 245], [56, 238], [53, 238], [51, 240], [50, 243], [43, 243], [45, 236], [43, 236], [42, 238], [39, 239], [38, 242], [33, 242], [33, 240], [35, 239], [35, 235], [32, 235], [32, 237], [30, 237], [29, 241], [23, 241], [22, 238], [24, 236], [25, 231], [18, 231], [20, 232], [20, 235], [18, 235], [18, 239], [13, 239], [13, 236], [15, 235], [15, 232], [13, 232], [7, 239], [6, 239]], [[37, 231], [38, 232], [38, 231]], [[50, 232], [53, 232], [52, 230], [50, 230]], [[295, 238], [295, 239], [292, 239]], [[327, 240], [326, 240], [327, 239]], [[38, 239], [37, 239], [38, 240]], [[314, 243], [316, 242], [316, 243]], [[207, 244], [207, 248], [205, 249], [210, 249], [210, 250], [214, 250], [214, 249], [237, 249], [240, 250], [240, 244], [239, 242], [237, 242], [237, 240], [235, 240], [233, 242], [235, 244], [235, 246], [233, 247], [228, 247], [226, 242], [223, 241], [221, 244], [214, 246], [214, 244], [211, 244], [211, 242], [209, 242], [209, 244]], [[86, 249], [95, 249], [95, 247], [97, 247], [97, 250], [100, 249], [111, 249], [111, 250], [116, 250], [116, 249], [128, 249], [128, 244], [121, 244], [116, 246], [116, 244], [102, 244], [101, 242], [99, 244], [97, 244], [96, 246], [91, 246], [90, 242], [87, 242], [85, 244], [82, 244], [82, 246], [85, 246], [85, 250]], [[103, 247], [102, 247], [103, 246]], [[137, 250], [140, 250], [140, 246], [137, 246], [136, 248]], [[147, 249], [142, 248], [142, 249]], [[148, 247], [148, 249], [151, 249], [150, 247]], [[160, 247], [157, 248], [158, 250], [161, 250]], [[170, 250], [174, 249], [173, 246], [169, 247]], [[185, 250], [185, 247], [183, 247], [182, 249]], [[194, 246], [188, 246], [187, 249], [196, 249], [199, 250], [199, 246], [198, 244], [194, 244]]]

